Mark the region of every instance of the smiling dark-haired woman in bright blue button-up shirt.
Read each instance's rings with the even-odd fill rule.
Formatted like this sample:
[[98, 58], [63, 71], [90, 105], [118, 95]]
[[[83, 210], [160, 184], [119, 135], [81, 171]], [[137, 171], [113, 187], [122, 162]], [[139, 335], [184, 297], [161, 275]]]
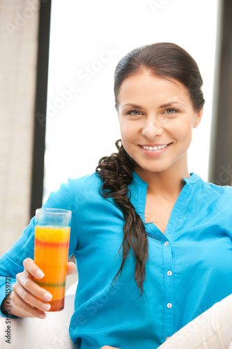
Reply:
[[[115, 71], [118, 153], [44, 205], [72, 211], [69, 254], [79, 285], [70, 336], [80, 348], [155, 349], [231, 294], [232, 189], [187, 168], [202, 83], [178, 45], [129, 52]], [[36, 296], [50, 296], [31, 279], [42, 277], [33, 233], [34, 218], [2, 256], [1, 275], [16, 275], [12, 314], [44, 318], [49, 304]], [[69, 263], [68, 274], [73, 269]]]

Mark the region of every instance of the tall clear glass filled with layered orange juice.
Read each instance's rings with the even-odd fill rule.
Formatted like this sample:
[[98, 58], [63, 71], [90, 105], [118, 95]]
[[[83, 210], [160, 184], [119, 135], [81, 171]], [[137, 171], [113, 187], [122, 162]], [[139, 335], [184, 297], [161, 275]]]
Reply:
[[64, 307], [71, 216], [66, 209], [36, 209], [34, 262], [45, 276], [33, 280], [52, 294], [49, 311]]

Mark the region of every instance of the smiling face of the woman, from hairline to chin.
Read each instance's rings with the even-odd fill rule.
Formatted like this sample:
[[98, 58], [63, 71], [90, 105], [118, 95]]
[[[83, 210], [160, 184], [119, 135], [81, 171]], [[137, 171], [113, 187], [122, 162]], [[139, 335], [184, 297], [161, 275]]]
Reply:
[[[123, 147], [135, 170], [160, 172], [187, 168], [192, 129], [202, 111], [192, 107], [187, 88], [173, 80], [139, 73], [128, 77], [118, 96], [118, 119]], [[173, 167], [174, 166], [174, 167]]]

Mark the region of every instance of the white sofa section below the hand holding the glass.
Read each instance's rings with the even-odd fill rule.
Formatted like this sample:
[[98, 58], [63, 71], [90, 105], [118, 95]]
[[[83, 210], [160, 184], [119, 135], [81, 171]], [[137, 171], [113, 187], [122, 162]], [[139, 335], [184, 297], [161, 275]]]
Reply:
[[68, 332], [70, 318], [74, 313], [77, 282], [65, 294], [63, 311], [47, 313], [45, 319], [11, 318], [10, 343], [6, 340], [6, 318], [0, 315], [1, 349], [77, 349]]

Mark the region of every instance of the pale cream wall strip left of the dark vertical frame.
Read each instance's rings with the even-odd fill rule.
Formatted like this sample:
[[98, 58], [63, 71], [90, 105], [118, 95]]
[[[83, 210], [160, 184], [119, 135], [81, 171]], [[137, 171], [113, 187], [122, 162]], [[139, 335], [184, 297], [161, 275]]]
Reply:
[[39, 4], [1, 0], [0, 255], [29, 223]]

